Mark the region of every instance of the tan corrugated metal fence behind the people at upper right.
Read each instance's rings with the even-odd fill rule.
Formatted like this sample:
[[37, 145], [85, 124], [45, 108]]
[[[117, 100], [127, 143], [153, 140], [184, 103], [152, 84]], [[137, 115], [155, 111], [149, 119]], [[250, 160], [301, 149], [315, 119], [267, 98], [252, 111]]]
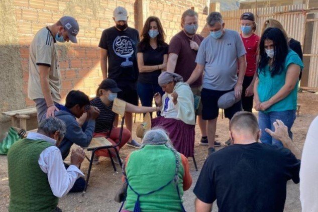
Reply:
[[[310, 62], [305, 63], [307, 66], [304, 68], [306, 79], [303, 79], [305, 83], [302, 86], [312, 87], [318, 89], [318, 13], [315, 11], [314, 19], [307, 20], [306, 15], [308, 11], [305, 5], [291, 5], [282, 7], [269, 7], [258, 8], [249, 10], [236, 10], [222, 12], [223, 19], [227, 29], [232, 29], [240, 32], [240, 17], [244, 12], [252, 12], [256, 17], [257, 30], [256, 34], [261, 35], [264, 22], [273, 18], [278, 20], [286, 30], [288, 36], [298, 40], [301, 45], [304, 45], [306, 24], [313, 22], [312, 27], [312, 39], [310, 37], [310, 49], [304, 57], [310, 57]], [[312, 13], [312, 12], [309, 12]], [[308, 41], [306, 41], [308, 42]], [[304, 52], [306, 53], [306, 52]], [[305, 60], [304, 60], [305, 62]]]

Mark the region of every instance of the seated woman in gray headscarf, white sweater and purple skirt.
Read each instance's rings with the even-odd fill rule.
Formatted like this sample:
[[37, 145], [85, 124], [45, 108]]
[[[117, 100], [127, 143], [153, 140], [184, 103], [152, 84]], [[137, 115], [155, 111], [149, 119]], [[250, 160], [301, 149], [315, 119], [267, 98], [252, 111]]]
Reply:
[[152, 120], [151, 126], [158, 126], [169, 133], [174, 148], [185, 155], [193, 156], [194, 149], [194, 102], [191, 88], [176, 73], [163, 72], [158, 83], [165, 94], [156, 93], [155, 102], [161, 107], [161, 117]]

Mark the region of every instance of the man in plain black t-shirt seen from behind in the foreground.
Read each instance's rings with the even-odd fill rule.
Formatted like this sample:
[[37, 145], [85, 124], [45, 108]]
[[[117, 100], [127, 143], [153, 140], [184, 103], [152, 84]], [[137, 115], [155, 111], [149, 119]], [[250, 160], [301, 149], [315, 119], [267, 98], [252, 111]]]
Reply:
[[300, 161], [289, 149], [258, 143], [256, 117], [239, 112], [230, 122], [232, 143], [204, 162], [193, 192], [195, 210], [283, 211], [286, 183], [299, 182]]

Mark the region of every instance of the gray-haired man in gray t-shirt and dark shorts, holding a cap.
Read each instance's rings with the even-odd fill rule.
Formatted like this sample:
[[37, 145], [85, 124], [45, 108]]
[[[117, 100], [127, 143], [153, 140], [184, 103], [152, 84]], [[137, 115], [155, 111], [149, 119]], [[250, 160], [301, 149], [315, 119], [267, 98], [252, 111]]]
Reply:
[[[235, 91], [236, 98], [241, 98], [246, 51], [239, 33], [224, 29], [225, 23], [220, 13], [211, 13], [206, 22], [210, 36], [207, 36], [199, 47], [195, 59], [197, 65], [187, 83], [192, 84], [204, 71], [201, 101], [202, 119], [207, 120], [208, 156], [215, 152], [213, 141], [219, 116], [219, 98], [232, 90]], [[241, 110], [239, 101], [225, 109], [225, 117], [231, 120], [234, 114]]]

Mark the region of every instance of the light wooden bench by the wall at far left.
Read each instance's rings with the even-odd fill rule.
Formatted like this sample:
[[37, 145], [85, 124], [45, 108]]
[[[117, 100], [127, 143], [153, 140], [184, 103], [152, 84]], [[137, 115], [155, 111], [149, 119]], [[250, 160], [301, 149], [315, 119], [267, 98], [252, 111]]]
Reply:
[[27, 129], [27, 120], [37, 116], [36, 108], [22, 109], [2, 113], [11, 117], [11, 126], [21, 129]]

